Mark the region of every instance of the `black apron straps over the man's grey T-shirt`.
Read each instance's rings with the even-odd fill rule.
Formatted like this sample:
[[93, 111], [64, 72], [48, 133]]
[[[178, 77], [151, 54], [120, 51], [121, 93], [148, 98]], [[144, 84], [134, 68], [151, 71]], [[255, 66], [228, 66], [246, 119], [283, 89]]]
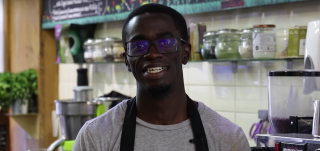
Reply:
[[[206, 133], [204, 131], [200, 114], [198, 112], [197, 106], [187, 95], [187, 107], [188, 114], [191, 121], [191, 127], [193, 131], [194, 138], [189, 142], [194, 143], [196, 146], [196, 151], [209, 151]], [[134, 140], [136, 133], [136, 117], [137, 117], [137, 107], [136, 98], [129, 100], [128, 107], [126, 110], [126, 115], [124, 117], [124, 122], [122, 126], [120, 151], [133, 151], [134, 150]]]

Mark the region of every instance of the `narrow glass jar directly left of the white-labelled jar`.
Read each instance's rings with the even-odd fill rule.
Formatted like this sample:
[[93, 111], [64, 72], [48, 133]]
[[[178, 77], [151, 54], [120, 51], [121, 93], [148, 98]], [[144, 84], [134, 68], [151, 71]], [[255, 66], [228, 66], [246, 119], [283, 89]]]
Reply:
[[253, 28], [245, 28], [241, 30], [241, 44], [239, 46], [239, 53], [242, 58], [250, 59], [253, 58], [252, 52], [252, 32]]

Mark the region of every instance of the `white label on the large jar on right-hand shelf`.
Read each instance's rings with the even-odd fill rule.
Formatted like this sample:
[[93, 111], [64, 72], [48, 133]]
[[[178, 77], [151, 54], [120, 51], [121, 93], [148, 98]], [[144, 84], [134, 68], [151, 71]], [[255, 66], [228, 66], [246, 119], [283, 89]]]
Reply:
[[270, 33], [253, 33], [253, 49], [254, 51], [276, 51], [276, 36]]

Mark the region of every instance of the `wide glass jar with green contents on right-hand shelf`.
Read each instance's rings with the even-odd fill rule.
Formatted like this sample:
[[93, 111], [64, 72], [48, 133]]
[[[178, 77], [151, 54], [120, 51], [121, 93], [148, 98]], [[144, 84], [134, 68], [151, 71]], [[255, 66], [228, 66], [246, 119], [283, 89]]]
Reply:
[[217, 45], [215, 55], [218, 59], [239, 59], [238, 48], [240, 45], [239, 30], [221, 29], [217, 31]]

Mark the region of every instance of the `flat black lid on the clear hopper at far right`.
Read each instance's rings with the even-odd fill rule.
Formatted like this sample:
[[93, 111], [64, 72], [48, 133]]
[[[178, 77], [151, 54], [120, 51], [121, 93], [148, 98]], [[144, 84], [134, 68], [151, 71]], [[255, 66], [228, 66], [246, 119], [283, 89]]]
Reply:
[[317, 70], [281, 70], [281, 71], [269, 71], [269, 77], [320, 77], [320, 71]]

